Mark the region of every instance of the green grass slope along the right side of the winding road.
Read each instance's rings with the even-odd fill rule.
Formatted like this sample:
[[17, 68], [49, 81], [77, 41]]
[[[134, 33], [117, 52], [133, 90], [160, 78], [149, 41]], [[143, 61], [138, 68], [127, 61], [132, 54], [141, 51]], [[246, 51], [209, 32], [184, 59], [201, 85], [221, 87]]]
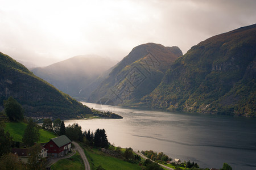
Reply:
[[125, 160], [105, 155], [103, 152], [99, 151], [96, 148], [84, 147], [84, 152], [92, 170], [97, 169], [97, 167], [99, 167], [100, 165], [106, 170], [141, 170], [141, 167], [138, 165], [138, 163], [129, 163]]

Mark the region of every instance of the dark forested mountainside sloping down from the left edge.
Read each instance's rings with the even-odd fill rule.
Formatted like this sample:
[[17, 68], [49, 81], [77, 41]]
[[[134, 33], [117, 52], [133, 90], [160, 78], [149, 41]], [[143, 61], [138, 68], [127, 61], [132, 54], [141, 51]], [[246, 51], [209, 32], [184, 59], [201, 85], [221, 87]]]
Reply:
[[3, 100], [9, 96], [23, 105], [25, 116], [64, 119], [92, 114], [88, 107], [0, 52], [0, 110], [3, 109]]

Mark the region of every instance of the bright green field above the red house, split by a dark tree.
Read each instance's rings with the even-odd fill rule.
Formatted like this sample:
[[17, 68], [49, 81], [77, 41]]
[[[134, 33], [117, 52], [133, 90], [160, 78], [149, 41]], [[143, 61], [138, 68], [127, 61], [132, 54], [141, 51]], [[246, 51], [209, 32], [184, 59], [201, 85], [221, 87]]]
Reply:
[[[26, 127], [27, 127], [27, 124], [24, 124], [23, 122], [18, 122], [18, 123], [9, 122], [5, 124], [5, 130], [9, 131], [14, 141], [19, 141], [19, 142], [22, 142], [22, 136]], [[39, 143], [46, 143], [49, 141], [49, 139], [56, 137], [55, 134], [43, 129], [40, 129], [39, 132], [40, 132]]]

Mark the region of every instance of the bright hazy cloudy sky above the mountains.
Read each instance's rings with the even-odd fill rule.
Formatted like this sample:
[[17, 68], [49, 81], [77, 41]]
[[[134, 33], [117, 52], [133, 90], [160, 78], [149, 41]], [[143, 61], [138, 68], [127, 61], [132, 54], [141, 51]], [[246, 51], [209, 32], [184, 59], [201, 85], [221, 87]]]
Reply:
[[0, 52], [39, 66], [82, 54], [121, 60], [146, 42], [186, 53], [256, 23], [255, 0], [0, 0]]

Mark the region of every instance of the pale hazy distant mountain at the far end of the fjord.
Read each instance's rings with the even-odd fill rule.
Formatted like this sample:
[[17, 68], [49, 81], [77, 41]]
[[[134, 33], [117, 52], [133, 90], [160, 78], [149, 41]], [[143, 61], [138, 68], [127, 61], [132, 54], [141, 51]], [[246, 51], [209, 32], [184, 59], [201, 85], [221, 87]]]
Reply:
[[31, 71], [60, 91], [80, 100], [86, 100], [104, 79], [102, 73], [115, 63], [117, 62], [108, 58], [86, 55], [72, 57], [47, 67], [34, 68]]

